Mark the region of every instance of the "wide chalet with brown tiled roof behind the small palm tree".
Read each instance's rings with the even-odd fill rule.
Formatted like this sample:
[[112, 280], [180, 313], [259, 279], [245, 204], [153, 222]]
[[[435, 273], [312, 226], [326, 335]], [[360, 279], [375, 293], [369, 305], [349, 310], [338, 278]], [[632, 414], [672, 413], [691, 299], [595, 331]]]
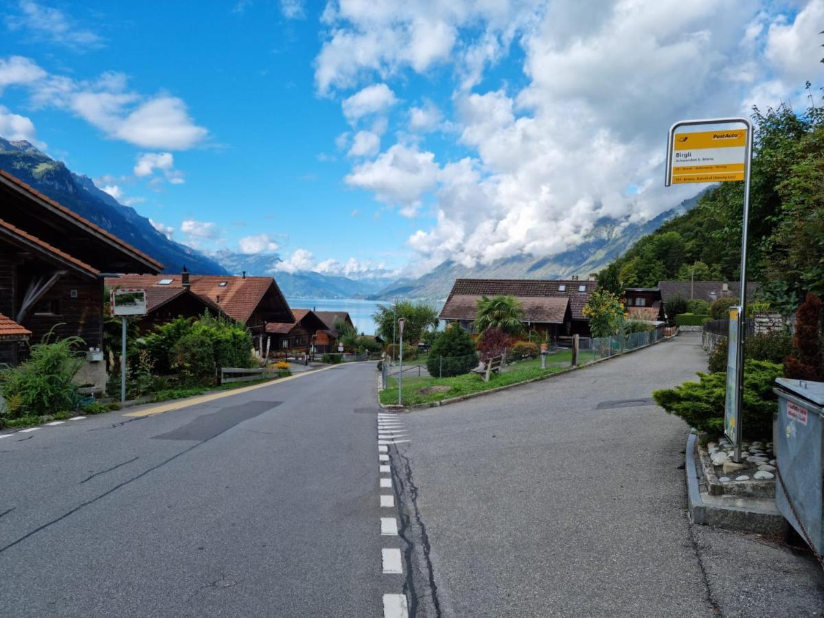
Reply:
[[583, 307], [596, 287], [596, 281], [579, 279], [456, 279], [438, 317], [474, 332], [480, 298], [513, 296], [523, 305], [527, 330], [552, 338], [588, 337], [589, 320]]

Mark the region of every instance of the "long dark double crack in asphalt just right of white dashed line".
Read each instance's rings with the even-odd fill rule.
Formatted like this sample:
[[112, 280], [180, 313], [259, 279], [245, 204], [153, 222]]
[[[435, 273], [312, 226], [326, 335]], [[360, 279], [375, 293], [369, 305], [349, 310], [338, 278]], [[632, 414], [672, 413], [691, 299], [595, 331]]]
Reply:
[[438, 584], [435, 583], [435, 571], [432, 564], [432, 559], [430, 557], [432, 546], [429, 543], [429, 536], [426, 531], [424, 519], [421, 516], [420, 509], [418, 508], [418, 487], [414, 484], [414, 481], [412, 480], [412, 466], [410, 464], [409, 458], [404, 455], [401, 455], [400, 451], [398, 451], [398, 448], [396, 446], [393, 446], [393, 449], [398, 459], [403, 462], [404, 469], [404, 475], [402, 477], [400, 473], [397, 471], [396, 466], [392, 466], [392, 476], [395, 477], [396, 480], [395, 496], [397, 500], [398, 516], [400, 517], [400, 528], [398, 530], [398, 536], [400, 536], [400, 538], [403, 539], [403, 541], [406, 544], [406, 548], [404, 550], [404, 561], [406, 563], [407, 575], [404, 588], [410, 593], [410, 618], [414, 618], [414, 616], [417, 616], [419, 600], [417, 591], [414, 587], [414, 541], [407, 535], [407, 530], [411, 527], [411, 519], [410, 516], [407, 513], [405, 513], [403, 507], [404, 500], [402, 499], [402, 495], [406, 493], [406, 488], [409, 489], [409, 502], [412, 506], [412, 511], [414, 513], [414, 525], [419, 528], [421, 545], [424, 550], [424, 566], [426, 569], [430, 597], [432, 597], [432, 603], [435, 609], [435, 616], [436, 618], [442, 618], [441, 604], [438, 599]]

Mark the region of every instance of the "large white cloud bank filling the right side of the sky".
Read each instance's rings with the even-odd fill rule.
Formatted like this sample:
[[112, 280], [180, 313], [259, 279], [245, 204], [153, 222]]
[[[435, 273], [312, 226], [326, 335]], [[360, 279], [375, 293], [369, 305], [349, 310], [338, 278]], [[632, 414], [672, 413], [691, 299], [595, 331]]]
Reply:
[[[350, 123], [405, 107], [394, 143], [353, 146], [345, 182], [433, 215], [407, 241], [420, 272], [555, 255], [599, 218], [653, 218], [696, 189], [662, 187], [672, 122], [798, 109], [822, 77], [824, 0], [341, 0], [321, 21], [318, 95]], [[489, 78], [501, 63], [522, 79]], [[448, 80], [451, 109], [405, 96], [413, 76]], [[428, 147], [444, 122], [459, 157]]]

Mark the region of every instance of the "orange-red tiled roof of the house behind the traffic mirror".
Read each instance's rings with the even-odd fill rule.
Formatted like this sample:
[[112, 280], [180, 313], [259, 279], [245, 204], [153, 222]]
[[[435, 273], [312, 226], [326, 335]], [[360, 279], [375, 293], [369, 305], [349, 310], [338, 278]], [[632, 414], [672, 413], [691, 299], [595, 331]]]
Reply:
[[[171, 283], [160, 285], [158, 282], [163, 279], [171, 279]], [[189, 281], [192, 293], [204, 302], [211, 303], [213, 307], [219, 307], [233, 320], [243, 323], [249, 320], [269, 288], [273, 285], [277, 288], [277, 283], [271, 277], [190, 274]], [[223, 282], [226, 285], [220, 285]], [[124, 274], [119, 278], [106, 279], [105, 283], [124, 288], [183, 288], [180, 274]], [[285, 304], [285, 299], [283, 302]]]

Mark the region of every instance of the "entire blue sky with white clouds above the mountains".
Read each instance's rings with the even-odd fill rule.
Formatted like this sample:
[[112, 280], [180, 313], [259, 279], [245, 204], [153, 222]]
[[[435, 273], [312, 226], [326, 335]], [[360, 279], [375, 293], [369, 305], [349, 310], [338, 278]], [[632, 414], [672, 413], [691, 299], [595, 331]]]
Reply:
[[824, 85], [824, 0], [0, 7], [0, 136], [288, 272], [553, 255], [700, 190], [663, 186], [673, 122]]

